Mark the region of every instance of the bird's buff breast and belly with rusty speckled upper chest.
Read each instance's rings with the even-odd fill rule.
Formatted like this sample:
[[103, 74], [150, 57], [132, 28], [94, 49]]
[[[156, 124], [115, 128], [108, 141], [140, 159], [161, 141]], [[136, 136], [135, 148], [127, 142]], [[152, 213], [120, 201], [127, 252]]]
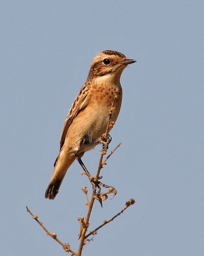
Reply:
[[87, 107], [74, 118], [67, 132], [65, 143], [72, 145], [71, 151], [82, 147], [81, 141], [84, 137], [89, 136], [94, 141], [106, 132], [109, 111], [117, 95], [111, 117], [112, 121], [116, 121], [122, 102], [122, 89], [120, 88], [97, 86], [89, 91], [90, 101]]

